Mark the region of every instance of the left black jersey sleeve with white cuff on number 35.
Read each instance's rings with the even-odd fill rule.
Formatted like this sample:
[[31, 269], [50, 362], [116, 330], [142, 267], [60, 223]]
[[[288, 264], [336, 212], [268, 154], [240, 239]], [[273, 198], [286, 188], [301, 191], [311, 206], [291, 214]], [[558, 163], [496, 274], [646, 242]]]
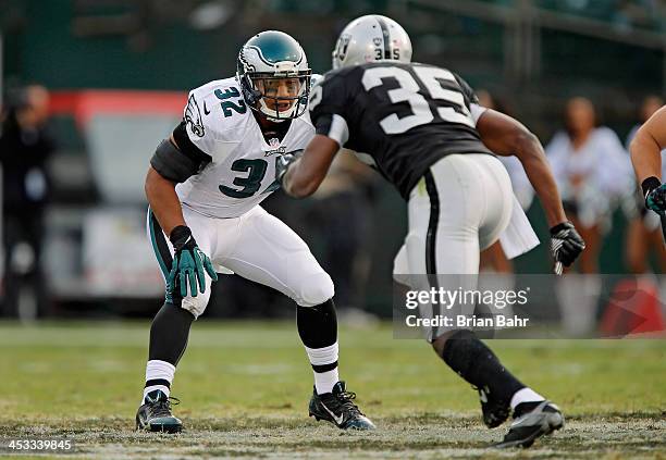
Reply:
[[325, 75], [312, 87], [309, 109], [314, 130], [335, 140], [340, 147], [349, 139], [346, 105], [347, 91], [340, 75]]

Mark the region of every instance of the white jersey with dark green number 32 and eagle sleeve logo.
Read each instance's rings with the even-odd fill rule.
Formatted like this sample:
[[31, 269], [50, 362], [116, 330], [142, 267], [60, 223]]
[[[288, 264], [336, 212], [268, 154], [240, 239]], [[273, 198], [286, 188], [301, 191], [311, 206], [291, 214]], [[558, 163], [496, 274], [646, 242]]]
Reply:
[[278, 158], [305, 149], [314, 136], [306, 111], [292, 120], [282, 141], [267, 142], [235, 77], [192, 90], [184, 117], [189, 140], [212, 161], [178, 184], [176, 194], [184, 207], [211, 217], [237, 217], [259, 204], [280, 188]]

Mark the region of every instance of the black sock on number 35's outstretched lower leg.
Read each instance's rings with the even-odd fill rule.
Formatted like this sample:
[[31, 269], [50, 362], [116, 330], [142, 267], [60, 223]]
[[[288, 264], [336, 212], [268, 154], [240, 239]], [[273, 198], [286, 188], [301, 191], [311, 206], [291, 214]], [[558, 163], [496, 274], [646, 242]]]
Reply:
[[452, 335], [446, 340], [442, 359], [467, 382], [486, 389], [493, 398], [506, 403], [516, 391], [525, 388], [471, 331], [458, 331]]

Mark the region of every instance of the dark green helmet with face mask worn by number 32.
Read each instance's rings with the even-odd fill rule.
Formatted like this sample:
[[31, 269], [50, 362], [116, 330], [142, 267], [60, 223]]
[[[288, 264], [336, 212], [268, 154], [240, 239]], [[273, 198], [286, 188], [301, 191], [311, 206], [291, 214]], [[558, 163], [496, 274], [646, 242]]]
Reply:
[[303, 115], [311, 73], [298, 41], [283, 32], [257, 34], [238, 53], [236, 78], [245, 102], [273, 122]]

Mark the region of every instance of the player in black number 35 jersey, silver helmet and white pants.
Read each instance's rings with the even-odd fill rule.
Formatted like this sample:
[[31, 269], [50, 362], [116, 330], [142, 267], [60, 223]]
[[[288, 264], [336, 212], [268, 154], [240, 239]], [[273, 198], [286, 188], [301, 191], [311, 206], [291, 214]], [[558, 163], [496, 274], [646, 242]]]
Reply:
[[[497, 240], [513, 212], [510, 179], [493, 153], [515, 154], [545, 208], [554, 259], [570, 265], [584, 243], [566, 220], [539, 139], [516, 120], [480, 107], [456, 74], [410, 60], [409, 37], [387, 17], [362, 16], [343, 30], [334, 70], [310, 97], [317, 135], [301, 157], [280, 161], [284, 190], [312, 194], [335, 153], [354, 150], [408, 202], [410, 273], [474, 275], [480, 249]], [[498, 447], [529, 447], [564, 425], [557, 406], [514, 377], [472, 332], [434, 330], [429, 340], [478, 389], [489, 427], [513, 411]]]

